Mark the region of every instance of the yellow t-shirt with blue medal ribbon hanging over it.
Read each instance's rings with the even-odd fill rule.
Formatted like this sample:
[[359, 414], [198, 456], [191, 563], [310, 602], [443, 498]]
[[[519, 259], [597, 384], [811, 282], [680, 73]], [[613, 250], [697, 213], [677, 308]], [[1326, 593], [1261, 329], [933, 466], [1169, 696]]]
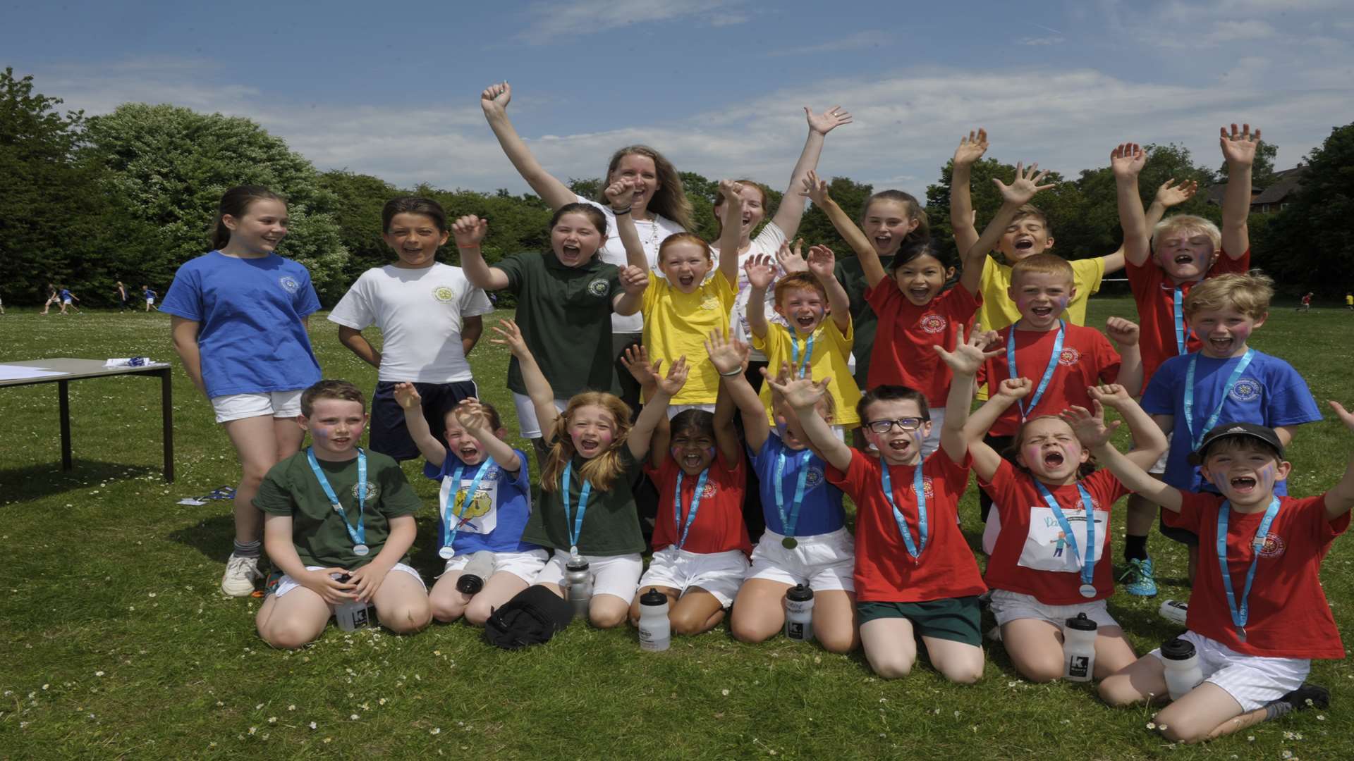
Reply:
[[[827, 393], [833, 395], [833, 402], [837, 405], [837, 414], [831, 422], [833, 425], [854, 428], [860, 425], [860, 416], [856, 414], [860, 389], [856, 386], [856, 379], [852, 378], [850, 368], [846, 364], [848, 357], [850, 357], [850, 347], [856, 341], [854, 325], [849, 325], [844, 336], [841, 329], [837, 328], [837, 322], [833, 321], [831, 316], [827, 316], [823, 317], [818, 329], [814, 330], [812, 337], [814, 353], [808, 357], [808, 376], [815, 380], [822, 379], [825, 375], [831, 376], [831, 380], [827, 383]], [[808, 351], [807, 336], [795, 334], [792, 337], [788, 328], [776, 325], [774, 322], [768, 325], [765, 339], [753, 336], [753, 348], [766, 353], [766, 362], [769, 363], [766, 371], [770, 374], [780, 370], [780, 363], [793, 360], [795, 351], [791, 349], [791, 344], [796, 345], [799, 357], [803, 360], [804, 353]], [[761, 399], [762, 406], [766, 408], [766, 420], [772, 425], [776, 425], [776, 417], [770, 409], [769, 383], [762, 383]]]

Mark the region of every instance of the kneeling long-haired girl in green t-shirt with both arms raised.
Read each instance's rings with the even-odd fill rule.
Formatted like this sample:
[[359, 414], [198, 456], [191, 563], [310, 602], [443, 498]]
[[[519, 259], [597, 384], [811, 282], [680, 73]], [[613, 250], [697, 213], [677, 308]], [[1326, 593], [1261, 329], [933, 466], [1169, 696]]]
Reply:
[[[668, 399], [686, 380], [686, 360], [680, 357], [657, 380], [654, 395], [630, 422], [630, 408], [613, 394], [584, 391], [555, 408], [555, 393], [540, 371], [521, 330], [510, 320], [494, 326], [517, 359], [538, 420], [550, 447], [540, 474], [540, 509], [532, 510], [523, 540], [550, 547], [554, 555], [536, 575], [536, 584], [563, 596], [565, 563], [581, 557], [596, 578], [588, 617], [597, 628], [626, 623], [630, 603], [639, 589], [645, 538], [631, 485], [639, 463], [649, 454], [658, 421], [668, 417]], [[661, 363], [654, 364], [654, 372]]]

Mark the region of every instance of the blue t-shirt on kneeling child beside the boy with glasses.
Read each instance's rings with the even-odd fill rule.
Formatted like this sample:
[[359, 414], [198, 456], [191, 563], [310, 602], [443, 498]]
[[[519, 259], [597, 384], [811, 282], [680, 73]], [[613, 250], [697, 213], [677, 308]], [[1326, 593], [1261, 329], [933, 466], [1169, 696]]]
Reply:
[[[780, 479], [776, 479], [776, 460], [785, 454], [785, 470]], [[761, 482], [762, 516], [766, 519], [766, 531], [785, 535], [785, 524], [780, 520], [780, 509], [776, 506], [776, 489], [781, 489], [785, 504], [785, 515], [791, 513], [795, 504], [795, 486], [799, 483], [799, 462], [807, 454], [808, 460], [804, 467], [808, 475], [804, 477], [804, 501], [799, 506], [799, 521], [795, 524], [795, 536], [815, 536], [831, 534], [842, 527], [846, 517], [842, 510], [842, 490], [827, 482], [823, 470], [827, 467], [818, 455], [808, 450], [795, 451], [787, 447], [774, 431], [766, 436], [760, 452], [747, 450], [753, 459], [753, 470], [757, 471], [757, 481]]]

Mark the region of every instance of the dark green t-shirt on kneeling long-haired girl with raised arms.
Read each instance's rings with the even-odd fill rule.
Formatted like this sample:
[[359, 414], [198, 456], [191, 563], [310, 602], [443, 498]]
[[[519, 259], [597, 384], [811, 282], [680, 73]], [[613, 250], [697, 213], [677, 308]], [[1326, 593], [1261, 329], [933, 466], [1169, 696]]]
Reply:
[[[574, 469], [569, 483], [569, 505], [573, 517], [578, 516], [578, 493], [584, 486], [580, 473], [584, 458], [574, 456]], [[584, 555], [630, 555], [645, 551], [645, 536], [639, 532], [639, 510], [635, 508], [634, 482], [639, 477], [639, 466], [630, 454], [628, 445], [620, 448], [620, 466], [624, 473], [612, 485], [611, 492], [596, 486], [588, 497], [584, 510], [584, 525], [578, 532], [578, 551]], [[540, 504], [527, 519], [521, 532], [523, 542], [569, 551], [569, 529], [566, 525], [565, 500], [561, 492], [540, 490]]]

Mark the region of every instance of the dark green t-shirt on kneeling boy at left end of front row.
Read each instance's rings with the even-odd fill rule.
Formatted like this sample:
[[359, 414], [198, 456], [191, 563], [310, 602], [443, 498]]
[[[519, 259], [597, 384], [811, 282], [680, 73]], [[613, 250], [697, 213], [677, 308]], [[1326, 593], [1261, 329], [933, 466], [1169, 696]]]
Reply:
[[[317, 458], [317, 462], [338, 497], [348, 524], [356, 529], [357, 458], [345, 462]], [[363, 510], [371, 552], [366, 557], [352, 551], [352, 538], [310, 470], [305, 450], [272, 466], [259, 485], [253, 505], [268, 515], [291, 516], [291, 543], [302, 563], [348, 570], [359, 569], [376, 558], [390, 536], [390, 519], [412, 516], [421, 506], [399, 464], [371, 450], [367, 450], [367, 506]], [[408, 559], [406, 555], [401, 561]]]

